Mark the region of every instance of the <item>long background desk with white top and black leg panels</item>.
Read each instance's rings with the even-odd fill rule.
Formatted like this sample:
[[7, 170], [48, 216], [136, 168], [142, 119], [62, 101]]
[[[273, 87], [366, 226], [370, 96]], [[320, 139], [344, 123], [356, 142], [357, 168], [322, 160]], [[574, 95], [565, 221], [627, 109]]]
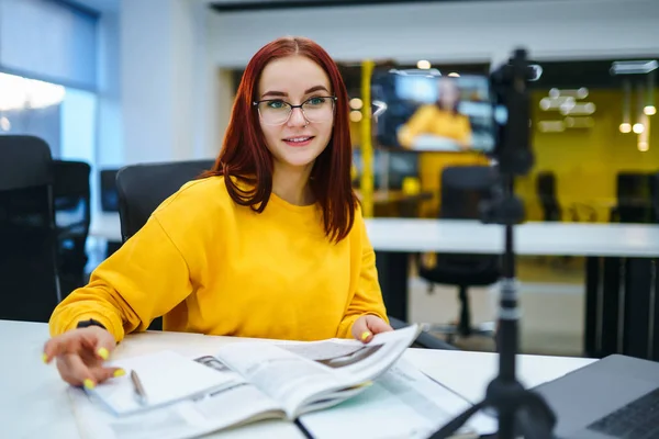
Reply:
[[[504, 229], [476, 221], [371, 218], [368, 235], [390, 315], [407, 318], [411, 254], [503, 254]], [[587, 257], [584, 348], [659, 360], [659, 225], [525, 223], [518, 255]], [[655, 324], [656, 323], [656, 324]]]

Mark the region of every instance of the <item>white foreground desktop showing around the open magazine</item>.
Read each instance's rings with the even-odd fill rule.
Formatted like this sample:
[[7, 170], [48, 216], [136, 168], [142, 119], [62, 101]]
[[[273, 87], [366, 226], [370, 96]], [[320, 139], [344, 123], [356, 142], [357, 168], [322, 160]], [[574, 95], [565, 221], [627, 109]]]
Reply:
[[[79, 434], [66, 395], [66, 386], [54, 363], [41, 362], [48, 338], [45, 324], [0, 320], [0, 425], [8, 438], [67, 438]], [[148, 351], [172, 349], [186, 356], [213, 352], [219, 346], [238, 340], [193, 334], [145, 333], [131, 335], [118, 347], [113, 359]], [[496, 360], [491, 353], [410, 349], [405, 357], [433, 379], [470, 401], [482, 397], [495, 375]], [[529, 386], [554, 380], [592, 360], [558, 357], [520, 356], [520, 379]], [[227, 432], [216, 438], [252, 437], [303, 438], [288, 423], [266, 421]]]

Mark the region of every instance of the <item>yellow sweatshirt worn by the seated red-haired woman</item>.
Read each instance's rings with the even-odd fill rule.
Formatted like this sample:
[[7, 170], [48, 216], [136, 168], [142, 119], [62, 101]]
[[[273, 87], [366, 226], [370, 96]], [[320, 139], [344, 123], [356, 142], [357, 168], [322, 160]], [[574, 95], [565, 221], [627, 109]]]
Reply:
[[349, 338], [353, 323], [386, 322], [361, 213], [347, 238], [324, 235], [317, 206], [272, 193], [263, 213], [233, 202], [222, 177], [187, 183], [53, 313], [53, 336], [93, 318], [118, 341], [163, 329], [315, 340]]

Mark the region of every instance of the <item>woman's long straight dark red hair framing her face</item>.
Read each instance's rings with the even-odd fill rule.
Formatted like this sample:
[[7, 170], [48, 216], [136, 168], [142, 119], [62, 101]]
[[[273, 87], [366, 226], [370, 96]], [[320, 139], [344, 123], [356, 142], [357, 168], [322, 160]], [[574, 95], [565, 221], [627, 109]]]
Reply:
[[[350, 166], [353, 146], [348, 121], [348, 93], [338, 68], [316, 43], [302, 37], [281, 37], [261, 47], [252, 58], [234, 101], [222, 151], [206, 175], [224, 176], [233, 201], [260, 213], [272, 191], [272, 157], [266, 147], [258, 112], [258, 82], [268, 63], [287, 56], [305, 56], [316, 63], [330, 78], [336, 95], [334, 126], [330, 144], [316, 158], [310, 176], [310, 188], [323, 212], [325, 235], [338, 243], [355, 222], [357, 196], [353, 191]], [[236, 181], [248, 183], [238, 188]]]

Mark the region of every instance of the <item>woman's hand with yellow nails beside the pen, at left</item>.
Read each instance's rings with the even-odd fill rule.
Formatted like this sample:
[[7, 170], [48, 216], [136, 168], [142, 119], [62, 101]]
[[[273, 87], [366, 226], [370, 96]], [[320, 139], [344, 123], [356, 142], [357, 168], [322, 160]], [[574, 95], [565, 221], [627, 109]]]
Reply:
[[115, 347], [112, 334], [100, 326], [89, 326], [51, 338], [44, 346], [43, 360], [47, 364], [55, 359], [59, 375], [67, 383], [93, 389], [125, 373], [121, 368], [103, 365]]

